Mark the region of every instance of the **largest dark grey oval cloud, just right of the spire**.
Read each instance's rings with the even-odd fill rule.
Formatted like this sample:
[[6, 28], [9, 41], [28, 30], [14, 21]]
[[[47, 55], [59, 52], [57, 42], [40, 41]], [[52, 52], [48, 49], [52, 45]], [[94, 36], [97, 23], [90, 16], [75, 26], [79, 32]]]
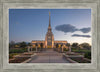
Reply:
[[67, 33], [67, 32], [73, 33], [78, 30], [75, 26], [72, 26], [71, 24], [58, 25], [55, 27], [55, 29], [57, 31], [62, 31], [64, 33]]

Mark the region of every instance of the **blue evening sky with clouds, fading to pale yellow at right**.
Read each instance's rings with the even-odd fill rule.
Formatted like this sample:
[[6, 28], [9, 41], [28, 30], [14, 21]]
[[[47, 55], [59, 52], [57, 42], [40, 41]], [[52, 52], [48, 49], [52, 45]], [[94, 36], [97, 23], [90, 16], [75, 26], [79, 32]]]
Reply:
[[9, 9], [9, 41], [45, 40], [49, 11], [54, 40], [91, 44], [91, 9]]

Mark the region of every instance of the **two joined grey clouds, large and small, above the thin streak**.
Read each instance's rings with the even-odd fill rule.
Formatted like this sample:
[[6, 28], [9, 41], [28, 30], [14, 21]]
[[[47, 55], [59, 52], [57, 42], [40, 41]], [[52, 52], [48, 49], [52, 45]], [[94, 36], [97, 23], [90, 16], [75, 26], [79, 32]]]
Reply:
[[55, 27], [55, 29], [56, 29], [57, 31], [62, 31], [62, 32], [64, 32], [64, 33], [68, 33], [68, 32], [73, 33], [73, 32], [75, 32], [75, 31], [81, 31], [81, 32], [83, 32], [83, 33], [88, 33], [88, 32], [91, 31], [91, 28], [90, 28], [90, 27], [78, 29], [78, 28], [76, 28], [75, 26], [73, 26], [73, 25], [71, 25], [71, 24], [57, 25], [57, 26]]

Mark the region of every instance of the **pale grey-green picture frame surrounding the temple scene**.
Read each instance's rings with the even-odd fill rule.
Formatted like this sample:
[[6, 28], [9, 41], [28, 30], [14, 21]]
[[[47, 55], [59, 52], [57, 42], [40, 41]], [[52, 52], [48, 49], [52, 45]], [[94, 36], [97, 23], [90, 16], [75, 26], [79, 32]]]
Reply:
[[[8, 62], [9, 8], [13, 9], [91, 9], [91, 63], [11, 63]], [[96, 3], [4, 3], [3, 4], [3, 69], [97, 69], [97, 4]]]

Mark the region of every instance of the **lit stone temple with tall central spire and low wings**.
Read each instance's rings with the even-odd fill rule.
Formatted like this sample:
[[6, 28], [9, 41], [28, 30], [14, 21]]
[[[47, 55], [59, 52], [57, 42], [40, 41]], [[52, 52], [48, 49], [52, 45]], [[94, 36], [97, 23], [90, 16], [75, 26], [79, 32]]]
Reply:
[[50, 12], [49, 12], [49, 26], [48, 26], [48, 31], [45, 36], [45, 40], [32, 40], [31, 44], [33, 47], [35, 47], [35, 44], [37, 43], [38, 47], [40, 47], [40, 44], [43, 44], [43, 48], [54, 48], [56, 44], [58, 45], [65, 45], [67, 41], [55, 41], [54, 40], [54, 35], [52, 33], [52, 28], [51, 28], [51, 20], [50, 20]]

